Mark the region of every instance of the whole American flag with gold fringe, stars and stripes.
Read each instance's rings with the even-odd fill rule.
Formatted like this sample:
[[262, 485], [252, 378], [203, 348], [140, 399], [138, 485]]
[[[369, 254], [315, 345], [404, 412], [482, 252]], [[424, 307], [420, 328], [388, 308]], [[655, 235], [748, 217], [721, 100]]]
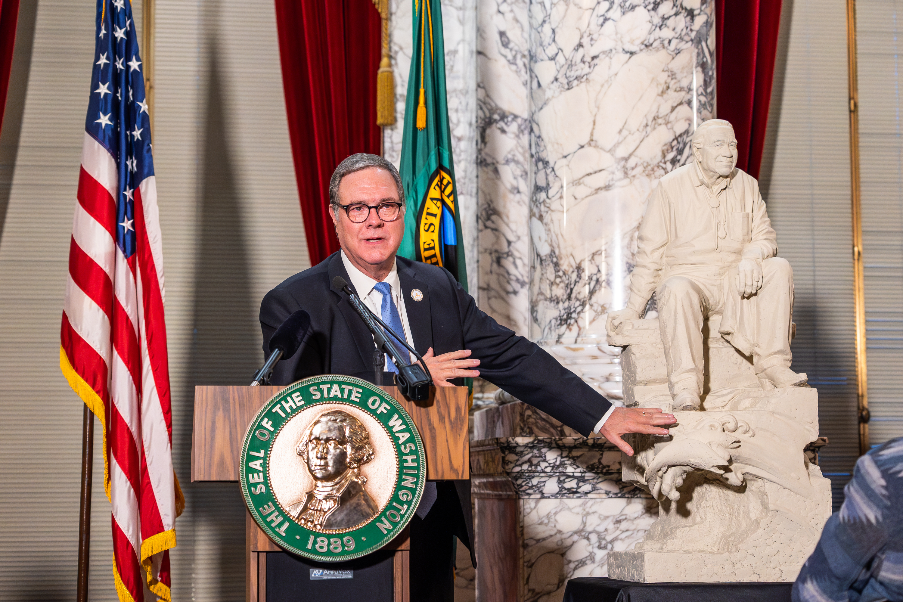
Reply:
[[143, 63], [128, 0], [98, 0], [93, 61], [60, 366], [103, 425], [119, 599], [169, 600], [178, 484], [163, 245]]

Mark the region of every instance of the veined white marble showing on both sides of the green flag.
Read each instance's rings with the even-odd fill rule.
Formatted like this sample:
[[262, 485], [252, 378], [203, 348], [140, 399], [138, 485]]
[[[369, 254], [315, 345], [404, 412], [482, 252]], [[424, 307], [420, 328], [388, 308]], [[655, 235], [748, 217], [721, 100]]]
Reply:
[[[405, 123], [407, 76], [411, 69], [414, 3], [389, 0], [389, 39], [395, 72], [396, 125], [383, 131], [383, 154], [398, 166], [401, 161], [402, 126]], [[477, 281], [477, 0], [443, 0], [442, 32], [445, 42], [445, 86], [452, 130], [452, 157], [461, 232], [470, 293], [476, 296]]]

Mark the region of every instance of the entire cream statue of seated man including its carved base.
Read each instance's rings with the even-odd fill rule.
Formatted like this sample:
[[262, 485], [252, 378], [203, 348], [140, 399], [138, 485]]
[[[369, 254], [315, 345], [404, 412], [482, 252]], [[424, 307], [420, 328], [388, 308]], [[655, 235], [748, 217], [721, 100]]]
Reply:
[[[831, 483], [806, 446], [818, 392], [790, 368], [793, 273], [755, 179], [736, 169], [731, 124], [692, 140], [639, 227], [622, 347], [628, 406], [674, 412], [670, 434], [631, 435], [622, 478], [659, 503], [634, 549], [610, 551], [631, 581], [792, 581], [831, 514]], [[657, 319], [647, 314], [656, 293]]]

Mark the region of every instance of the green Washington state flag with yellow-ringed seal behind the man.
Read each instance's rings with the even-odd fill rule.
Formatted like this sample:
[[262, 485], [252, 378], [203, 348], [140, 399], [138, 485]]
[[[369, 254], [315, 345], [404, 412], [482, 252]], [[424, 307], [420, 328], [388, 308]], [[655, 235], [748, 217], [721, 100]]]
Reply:
[[445, 45], [439, 0], [414, 1], [414, 53], [407, 82], [401, 180], [405, 238], [398, 255], [441, 265], [467, 290], [461, 210], [454, 179], [445, 94]]

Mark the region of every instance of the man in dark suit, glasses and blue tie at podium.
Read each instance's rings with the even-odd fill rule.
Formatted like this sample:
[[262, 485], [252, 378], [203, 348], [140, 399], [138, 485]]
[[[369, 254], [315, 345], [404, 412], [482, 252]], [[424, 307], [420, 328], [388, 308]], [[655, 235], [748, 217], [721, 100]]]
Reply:
[[[341, 162], [330, 180], [330, 209], [340, 252], [282, 282], [260, 304], [265, 354], [275, 329], [294, 311], [311, 315], [303, 346], [276, 365], [272, 384], [322, 374], [374, 380], [373, 337], [348, 295], [333, 285], [333, 278], [341, 276], [390, 328], [404, 332], [424, 356], [436, 386], [482, 376], [583, 435], [599, 432], [631, 455], [620, 435], [667, 434], [661, 425], [673, 423], [673, 415], [613, 407], [535, 343], [479, 310], [451, 273], [396, 257], [405, 234], [405, 195], [391, 162], [365, 153]], [[385, 366], [397, 372], [387, 357]], [[474, 557], [470, 482], [428, 483], [410, 525], [411, 599], [452, 600], [452, 535]]]

